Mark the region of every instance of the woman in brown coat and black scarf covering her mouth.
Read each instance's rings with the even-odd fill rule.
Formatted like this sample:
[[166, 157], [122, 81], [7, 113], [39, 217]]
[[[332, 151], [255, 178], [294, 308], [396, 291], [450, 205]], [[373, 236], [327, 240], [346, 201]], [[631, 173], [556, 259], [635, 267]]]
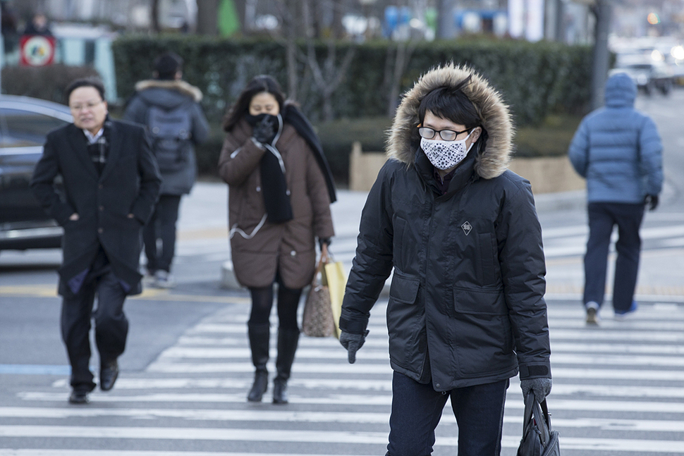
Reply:
[[297, 350], [297, 307], [311, 283], [321, 247], [334, 235], [335, 200], [327, 162], [311, 125], [285, 102], [270, 76], [252, 79], [228, 111], [219, 173], [230, 191], [228, 213], [233, 269], [252, 295], [248, 335], [255, 366], [248, 400], [268, 388], [270, 323], [278, 283], [278, 357], [273, 402], [288, 402], [287, 381]]

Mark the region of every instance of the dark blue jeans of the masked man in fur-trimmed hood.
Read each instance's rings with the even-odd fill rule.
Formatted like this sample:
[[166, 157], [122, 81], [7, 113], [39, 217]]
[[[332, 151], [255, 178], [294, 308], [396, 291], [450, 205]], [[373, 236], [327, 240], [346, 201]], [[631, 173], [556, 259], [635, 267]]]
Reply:
[[432, 389], [431, 383], [417, 383], [394, 372], [386, 455], [431, 455], [434, 429], [447, 398], [451, 398], [451, 408], [458, 424], [458, 456], [498, 456], [501, 454], [503, 404], [507, 389], [508, 379], [438, 393]]

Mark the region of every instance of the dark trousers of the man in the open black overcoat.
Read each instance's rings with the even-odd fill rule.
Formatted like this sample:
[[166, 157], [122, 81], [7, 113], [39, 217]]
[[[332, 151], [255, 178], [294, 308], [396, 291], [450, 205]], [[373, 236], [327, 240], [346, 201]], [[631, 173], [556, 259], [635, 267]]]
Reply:
[[[97, 309], [93, 304], [97, 295]], [[123, 314], [126, 292], [114, 276], [104, 251], [100, 249], [83, 285], [75, 294], [64, 296], [61, 312], [62, 340], [71, 363], [71, 386], [92, 391], [90, 371], [90, 326], [95, 321], [95, 343], [100, 365], [116, 360], [126, 348], [128, 319]]]

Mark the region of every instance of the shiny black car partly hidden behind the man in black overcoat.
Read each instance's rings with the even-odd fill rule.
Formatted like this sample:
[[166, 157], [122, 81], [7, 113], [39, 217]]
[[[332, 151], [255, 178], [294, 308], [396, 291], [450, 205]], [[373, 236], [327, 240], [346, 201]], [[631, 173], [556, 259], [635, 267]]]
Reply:
[[45, 214], [29, 183], [47, 133], [71, 121], [62, 104], [0, 95], [0, 250], [60, 247], [63, 230]]

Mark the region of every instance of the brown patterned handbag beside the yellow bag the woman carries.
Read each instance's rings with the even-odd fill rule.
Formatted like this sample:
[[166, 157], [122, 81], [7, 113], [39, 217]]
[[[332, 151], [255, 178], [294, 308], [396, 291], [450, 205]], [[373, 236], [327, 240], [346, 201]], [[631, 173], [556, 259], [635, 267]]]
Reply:
[[324, 266], [328, 263], [328, 249], [324, 246], [314, 273], [314, 280], [304, 304], [302, 332], [311, 337], [334, 337], [335, 321], [330, 304], [330, 290], [324, 281]]

